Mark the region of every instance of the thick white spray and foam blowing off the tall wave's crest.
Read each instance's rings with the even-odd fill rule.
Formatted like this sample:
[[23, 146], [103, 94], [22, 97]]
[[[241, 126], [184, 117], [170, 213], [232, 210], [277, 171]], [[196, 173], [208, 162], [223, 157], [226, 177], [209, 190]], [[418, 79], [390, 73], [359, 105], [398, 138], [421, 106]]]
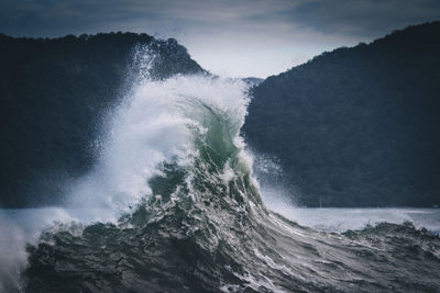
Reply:
[[195, 144], [205, 144], [212, 115], [222, 120], [218, 125], [228, 127], [224, 132], [231, 137], [211, 137], [223, 142], [209, 147], [229, 139], [241, 149], [238, 133], [246, 113], [245, 88], [238, 80], [199, 76], [136, 83], [113, 114], [98, 164], [74, 189], [70, 204], [128, 212], [151, 195], [147, 181], [162, 172], [161, 164], [194, 162]]

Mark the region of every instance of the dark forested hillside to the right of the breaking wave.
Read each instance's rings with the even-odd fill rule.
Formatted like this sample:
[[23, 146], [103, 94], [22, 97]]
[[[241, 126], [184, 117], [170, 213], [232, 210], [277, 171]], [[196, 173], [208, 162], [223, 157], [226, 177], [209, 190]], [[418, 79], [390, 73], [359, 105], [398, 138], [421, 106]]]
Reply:
[[253, 95], [246, 140], [300, 204], [440, 204], [439, 22], [324, 53]]

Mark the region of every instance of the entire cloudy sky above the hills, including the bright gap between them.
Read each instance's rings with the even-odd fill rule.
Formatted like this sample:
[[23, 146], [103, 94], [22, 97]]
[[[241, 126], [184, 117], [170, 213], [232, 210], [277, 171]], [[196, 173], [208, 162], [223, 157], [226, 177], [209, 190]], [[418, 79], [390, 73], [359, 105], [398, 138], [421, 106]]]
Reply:
[[439, 0], [0, 0], [0, 32], [175, 37], [206, 69], [267, 77], [339, 46], [440, 20]]

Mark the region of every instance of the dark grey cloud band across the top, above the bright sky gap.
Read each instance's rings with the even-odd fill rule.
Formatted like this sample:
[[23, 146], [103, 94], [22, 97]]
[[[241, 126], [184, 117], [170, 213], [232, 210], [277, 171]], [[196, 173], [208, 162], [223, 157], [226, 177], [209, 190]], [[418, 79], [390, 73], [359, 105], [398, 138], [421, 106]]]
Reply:
[[438, 0], [0, 0], [0, 31], [14, 35], [125, 31], [144, 25], [165, 32], [176, 27], [310, 27], [371, 36], [440, 19]]

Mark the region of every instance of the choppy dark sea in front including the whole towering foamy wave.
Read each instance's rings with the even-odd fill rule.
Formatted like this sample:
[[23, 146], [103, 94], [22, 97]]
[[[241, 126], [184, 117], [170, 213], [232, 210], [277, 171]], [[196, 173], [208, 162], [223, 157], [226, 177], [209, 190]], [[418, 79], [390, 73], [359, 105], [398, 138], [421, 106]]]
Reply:
[[68, 209], [29, 213], [43, 223], [28, 229], [23, 211], [3, 211], [0, 290], [439, 291], [433, 232], [409, 222], [320, 229], [267, 209], [240, 137], [248, 101], [238, 80], [136, 82]]

